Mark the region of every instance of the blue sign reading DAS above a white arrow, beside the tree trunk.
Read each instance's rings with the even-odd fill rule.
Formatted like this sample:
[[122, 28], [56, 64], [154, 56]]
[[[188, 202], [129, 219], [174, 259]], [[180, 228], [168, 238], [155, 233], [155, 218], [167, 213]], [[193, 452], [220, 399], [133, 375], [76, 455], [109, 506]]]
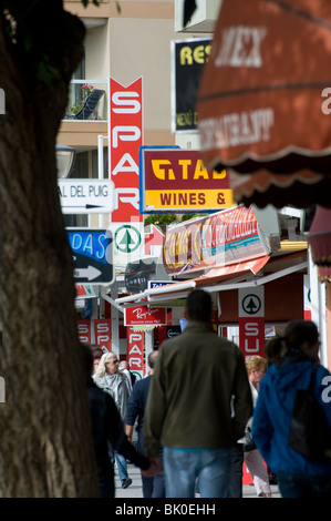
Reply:
[[112, 284], [113, 236], [108, 229], [66, 228], [76, 284]]

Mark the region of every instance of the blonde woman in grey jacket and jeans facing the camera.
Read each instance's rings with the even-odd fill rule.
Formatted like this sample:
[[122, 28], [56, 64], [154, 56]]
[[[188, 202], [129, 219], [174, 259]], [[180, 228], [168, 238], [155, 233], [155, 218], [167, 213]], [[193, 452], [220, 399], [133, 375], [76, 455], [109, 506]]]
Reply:
[[[101, 357], [96, 371], [93, 375], [93, 379], [101, 389], [108, 392], [114, 399], [124, 428], [130, 388], [126, 376], [118, 370], [118, 364], [120, 360], [115, 353], [105, 353]], [[117, 463], [122, 488], [126, 489], [132, 483], [132, 479], [127, 473], [126, 458], [124, 458], [117, 450], [114, 451], [114, 457]]]

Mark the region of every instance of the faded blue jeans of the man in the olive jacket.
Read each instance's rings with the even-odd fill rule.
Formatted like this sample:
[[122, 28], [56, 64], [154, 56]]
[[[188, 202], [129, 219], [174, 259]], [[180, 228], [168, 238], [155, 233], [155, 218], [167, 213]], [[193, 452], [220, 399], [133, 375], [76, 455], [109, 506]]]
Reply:
[[227, 498], [229, 493], [230, 448], [173, 449], [164, 447], [167, 498], [194, 498], [198, 479], [200, 498]]

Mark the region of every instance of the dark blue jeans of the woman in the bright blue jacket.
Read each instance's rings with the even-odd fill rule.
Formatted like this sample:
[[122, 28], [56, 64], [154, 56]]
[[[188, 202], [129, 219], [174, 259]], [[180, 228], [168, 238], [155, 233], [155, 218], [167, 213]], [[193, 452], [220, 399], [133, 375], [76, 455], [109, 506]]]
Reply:
[[331, 498], [331, 476], [277, 472], [282, 498]]

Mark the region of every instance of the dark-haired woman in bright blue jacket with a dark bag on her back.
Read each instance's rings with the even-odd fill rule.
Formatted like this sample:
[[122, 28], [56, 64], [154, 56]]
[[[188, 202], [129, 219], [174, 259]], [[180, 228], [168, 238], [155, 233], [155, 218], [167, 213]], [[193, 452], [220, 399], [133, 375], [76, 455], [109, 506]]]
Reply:
[[325, 399], [330, 372], [319, 364], [319, 347], [317, 326], [309, 320], [293, 320], [283, 337], [273, 339], [266, 349], [269, 368], [260, 382], [252, 437], [268, 468], [277, 474], [285, 498], [331, 497], [331, 460], [307, 458], [288, 441], [296, 391], [308, 389], [313, 368], [314, 398], [331, 429], [331, 403], [330, 398]]

